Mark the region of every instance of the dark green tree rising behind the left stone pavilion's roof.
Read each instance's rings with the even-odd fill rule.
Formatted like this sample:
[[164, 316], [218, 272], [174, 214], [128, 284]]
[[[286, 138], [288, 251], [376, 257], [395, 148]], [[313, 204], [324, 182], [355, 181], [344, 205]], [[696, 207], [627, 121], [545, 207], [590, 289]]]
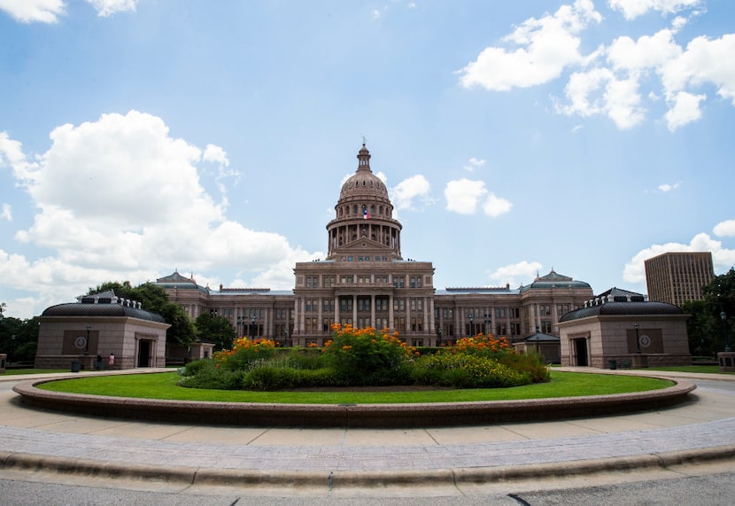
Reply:
[[180, 346], [189, 346], [196, 338], [194, 324], [191, 322], [183, 308], [168, 300], [166, 290], [152, 283], [143, 283], [133, 287], [129, 281], [119, 283], [117, 281], [108, 281], [97, 285], [97, 288], [90, 288], [88, 295], [93, 293], [105, 292], [112, 290], [119, 297], [130, 300], [137, 300], [143, 306], [143, 309], [151, 313], [158, 313], [163, 319], [171, 325], [166, 331], [166, 339], [169, 343]]

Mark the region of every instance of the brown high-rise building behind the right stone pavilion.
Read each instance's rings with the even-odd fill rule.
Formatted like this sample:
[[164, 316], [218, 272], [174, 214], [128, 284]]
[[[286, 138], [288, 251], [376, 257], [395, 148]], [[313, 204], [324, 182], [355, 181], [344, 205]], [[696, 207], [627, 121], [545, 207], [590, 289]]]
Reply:
[[715, 276], [712, 253], [663, 253], [645, 261], [648, 300], [681, 307], [685, 300], [702, 300], [702, 287]]

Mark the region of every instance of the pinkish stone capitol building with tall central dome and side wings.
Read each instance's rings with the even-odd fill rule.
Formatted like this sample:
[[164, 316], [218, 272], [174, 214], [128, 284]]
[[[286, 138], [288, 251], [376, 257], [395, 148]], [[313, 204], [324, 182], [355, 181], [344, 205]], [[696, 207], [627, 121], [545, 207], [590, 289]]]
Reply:
[[365, 144], [357, 159], [327, 223], [327, 257], [298, 262], [293, 290], [213, 290], [178, 272], [157, 284], [190, 317], [221, 315], [238, 335], [274, 339], [280, 346], [321, 346], [333, 323], [398, 331], [410, 346], [437, 346], [481, 332], [511, 341], [538, 331], [559, 336], [561, 315], [592, 298], [589, 284], [553, 269], [515, 289], [438, 290], [430, 261], [403, 257], [402, 226]]

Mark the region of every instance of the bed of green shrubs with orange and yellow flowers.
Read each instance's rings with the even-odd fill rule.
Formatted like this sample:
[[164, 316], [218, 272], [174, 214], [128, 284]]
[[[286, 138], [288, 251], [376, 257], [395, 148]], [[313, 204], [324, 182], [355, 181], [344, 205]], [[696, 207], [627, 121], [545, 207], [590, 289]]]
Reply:
[[535, 354], [516, 354], [506, 339], [479, 334], [458, 339], [436, 354], [421, 355], [398, 333], [334, 325], [322, 348], [294, 348], [275, 355], [267, 339], [236, 339], [231, 350], [191, 362], [180, 385], [195, 388], [284, 390], [292, 388], [433, 385], [489, 388], [549, 380]]

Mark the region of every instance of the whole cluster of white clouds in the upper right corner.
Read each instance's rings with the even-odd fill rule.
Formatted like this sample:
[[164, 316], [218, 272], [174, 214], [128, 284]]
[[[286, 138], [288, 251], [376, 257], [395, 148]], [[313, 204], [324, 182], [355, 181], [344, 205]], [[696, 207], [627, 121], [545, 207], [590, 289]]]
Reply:
[[[699, 0], [610, 0], [610, 8], [623, 12], [626, 19], [650, 11], [689, 12], [653, 35], [619, 36], [589, 54], [579, 50], [580, 37], [585, 28], [602, 21], [600, 13], [591, 2], [562, 5], [553, 14], [524, 21], [502, 40], [508, 47], [485, 48], [460, 70], [460, 84], [505, 91], [545, 84], [569, 70], [564, 99], [552, 97], [556, 113], [606, 116], [617, 128], [629, 129], [646, 120], [644, 96], [655, 101], [662, 95], [667, 109], [662, 119], [673, 132], [702, 117], [701, 107], [708, 98], [700, 92], [702, 87], [714, 86], [718, 96], [735, 105], [735, 34], [714, 40], [698, 36], [685, 48], [676, 41], [687, 21], [700, 15], [693, 10], [700, 4]], [[651, 89], [643, 93], [644, 86]]]

